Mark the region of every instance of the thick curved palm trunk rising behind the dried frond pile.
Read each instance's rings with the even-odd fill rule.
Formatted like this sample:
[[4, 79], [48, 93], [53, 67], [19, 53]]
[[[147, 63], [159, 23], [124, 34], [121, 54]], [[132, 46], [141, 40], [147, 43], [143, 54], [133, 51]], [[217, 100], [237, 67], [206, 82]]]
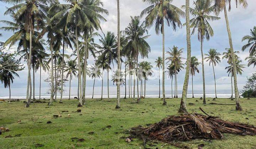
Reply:
[[186, 31], [187, 31], [187, 67], [185, 73], [185, 80], [183, 84], [181, 104], [179, 112], [187, 112], [186, 100], [187, 100], [187, 89], [190, 75], [190, 64], [191, 64], [191, 41], [190, 41], [190, 0], [186, 0]]

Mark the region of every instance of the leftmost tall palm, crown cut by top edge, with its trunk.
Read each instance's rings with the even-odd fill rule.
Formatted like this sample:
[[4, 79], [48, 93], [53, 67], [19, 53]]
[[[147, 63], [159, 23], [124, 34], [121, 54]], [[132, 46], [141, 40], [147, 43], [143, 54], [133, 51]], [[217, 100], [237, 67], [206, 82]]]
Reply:
[[15, 12], [15, 16], [18, 20], [23, 20], [26, 31], [29, 32], [30, 41], [30, 52], [28, 56], [28, 77], [27, 77], [27, 96], [26, 105], [29, 107], [29, 88], [30, 88], [30, 69], [31, 69], [31, 54], [32, 54], [32, 37], [34, 33], [34, 24], [37, 24], [37, 29], [40, 29], [45, 20], [45, 13], [48, 9], [47, 4], [51, 4], [54, 0], [2, 0], [2, 2], [7, 2], [8, 4], [14, 4], [14, 6], [7, 9], [4, 15], [9, 15]]

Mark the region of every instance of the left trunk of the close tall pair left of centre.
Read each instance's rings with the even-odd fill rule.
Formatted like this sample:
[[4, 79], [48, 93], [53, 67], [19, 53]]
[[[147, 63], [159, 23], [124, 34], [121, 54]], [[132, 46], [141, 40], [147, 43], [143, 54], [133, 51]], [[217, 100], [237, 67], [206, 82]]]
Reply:
[[82, 83], [81, 83], [81, 65], [80, 65], [80, 53], [78, 47], [78, 26], [75, 27], [75, 36], [76, 36], [76, 51], [78, 57], [78, 82], [79, 82], [79, 103], [82, 104]]

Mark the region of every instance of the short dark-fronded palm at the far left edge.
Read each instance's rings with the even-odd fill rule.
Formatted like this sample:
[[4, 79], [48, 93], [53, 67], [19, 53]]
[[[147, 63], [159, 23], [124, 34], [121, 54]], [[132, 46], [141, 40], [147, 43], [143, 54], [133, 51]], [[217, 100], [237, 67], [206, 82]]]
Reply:
[[[1, 61], [14, 61], [14, 59], [12, 59], [11, 57], [2, 57]], [[15, 71], [10, 71], [8, 69], [11, 70], [12, 68], [10, 67], [7, 68], [7, 70], [0, 71], [0, 82], [4, 83], [5, 88], [9, 88], [9, 103], [11, 103], [11, 83], [13, 83], [14, 76], [20, 76]]]

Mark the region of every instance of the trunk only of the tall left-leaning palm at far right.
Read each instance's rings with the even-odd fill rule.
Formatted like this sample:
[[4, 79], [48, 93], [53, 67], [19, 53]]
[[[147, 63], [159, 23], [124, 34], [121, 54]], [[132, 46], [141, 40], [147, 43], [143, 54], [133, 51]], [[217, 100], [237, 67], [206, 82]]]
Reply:
[[[225, 3], [224, 3], [225, 4]], [[229, 45], [230, 45], [230, 49], [231, 49], [231, 55], [232, 55], [232, 62], [233, 62], [233, 70], [234, 70], [234, 87], [235, 87], [235, 101], [236, 101], [236, 110], [242, 110], [242, 107], [240, 106], [239, 103], [239, 97], [238, 97], [238, 85], [237, 85], [237, 78], [236, 78], [236, 57], [234, 54], [234, 49], [233, 49], [233, 43], [232, 43], [232, 37], [231, 37], [231, 31], [230, 31], [230, 27], [229, 27], [229, 20], [228, 20], [228, 13], [226, 11], [226, 5], [224, 5], [223, 7], [224, 9], [224, 15], [225, 15], [225, 20], [226, 20], [226, 28], [228, 31], [228, 36], [229, 36]]]

